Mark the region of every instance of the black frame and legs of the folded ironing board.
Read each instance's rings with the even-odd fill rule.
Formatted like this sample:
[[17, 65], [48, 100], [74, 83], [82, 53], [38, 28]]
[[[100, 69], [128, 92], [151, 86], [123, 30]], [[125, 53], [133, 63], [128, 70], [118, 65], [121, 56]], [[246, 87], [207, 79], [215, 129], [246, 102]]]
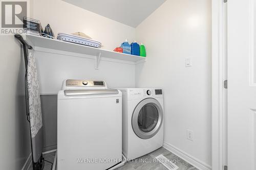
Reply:
[[14, 37], [22, 43], [23, 46], [23, 53], [24, 53], [24, 61], [25, 61], [25, 99], [26, 99], [26, 116], [27, 120], [29, 122], [30, 127], [30, 140], [31, 140], [31, 153], [32, 153], [32, 165], [33, 170], [41, 170], [44, 168], [44, 157], [41, 156], [38, 160], [33, 160], [33, 146], [32, 146], [32, 137], [31, 137], [31, 126], [30, 126], [30, 116], [29, 116], [29, 92], [28, 92], [28, 50], [33, 50], [33, 47], [28, 44], [27, 41], [25, 41], [20, 34], [15, 34]]

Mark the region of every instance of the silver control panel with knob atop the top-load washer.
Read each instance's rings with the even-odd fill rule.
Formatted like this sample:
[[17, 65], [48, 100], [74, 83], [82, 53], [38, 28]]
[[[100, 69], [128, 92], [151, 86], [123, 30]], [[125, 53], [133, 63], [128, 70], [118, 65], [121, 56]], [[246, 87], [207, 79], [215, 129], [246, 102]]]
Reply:
[[104, 81], [97, 80], [66, 80], [66, 86], [90, 86], [90, 87], [105, 87]]

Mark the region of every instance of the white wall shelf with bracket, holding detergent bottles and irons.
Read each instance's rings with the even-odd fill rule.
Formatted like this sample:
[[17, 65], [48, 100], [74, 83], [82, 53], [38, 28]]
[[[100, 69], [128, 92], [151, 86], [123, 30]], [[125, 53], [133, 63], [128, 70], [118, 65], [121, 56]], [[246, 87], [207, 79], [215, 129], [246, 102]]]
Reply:
[[104, 50], [101, 48], [95, 48], [95, 47], [90, 47], [86, 45], [60, 41], [57, 39], [50, 39], [50, 38], [40, 37], [36, 35], [26, 34], [24, 38], [29, 42], [31, 46], [33, 46], [35, 51], [37, 51], [38, 48], [40, 49], [48, 48], [52, 50], [66, 51], [71, 53], [79, 53], [84, 55], [95, 56], [95, 69], [98, 69], [101, 58], [129, 61], [129, 62], [133, 62], [134, 64], [140, 63], [146, 60], [145, 57], [118, 53], [114, 51]]

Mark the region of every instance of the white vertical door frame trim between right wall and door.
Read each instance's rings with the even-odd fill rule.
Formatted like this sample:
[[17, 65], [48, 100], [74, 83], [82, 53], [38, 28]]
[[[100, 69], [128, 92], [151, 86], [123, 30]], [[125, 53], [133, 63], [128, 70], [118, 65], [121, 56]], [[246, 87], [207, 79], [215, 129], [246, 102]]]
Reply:
[[223, 0], [211, 1], [212, 170], [223, 169]]

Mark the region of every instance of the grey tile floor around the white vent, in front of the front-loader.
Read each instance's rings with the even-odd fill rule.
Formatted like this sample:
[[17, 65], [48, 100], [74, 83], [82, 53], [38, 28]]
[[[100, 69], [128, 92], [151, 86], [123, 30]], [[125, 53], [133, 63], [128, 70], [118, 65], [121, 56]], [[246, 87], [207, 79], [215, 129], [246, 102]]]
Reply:
[[[179, 168], [178, 170], [198, 170], [194, 166], [190, 165], [186, 161], [182, 160], [173, 153], [167, 151], [164, 148], [160, 148], [152, 153], [144, 155], [137, 159], [137, 161], [126, 162], [123, 166], [117, 168], [118, 170], [166, 170], [167, 168], [159, 163], [154, 161], [154, 158], [162, 154], [167, 159], [172, 160]], [[150, 163], [149, 163], [150, 162]]]

